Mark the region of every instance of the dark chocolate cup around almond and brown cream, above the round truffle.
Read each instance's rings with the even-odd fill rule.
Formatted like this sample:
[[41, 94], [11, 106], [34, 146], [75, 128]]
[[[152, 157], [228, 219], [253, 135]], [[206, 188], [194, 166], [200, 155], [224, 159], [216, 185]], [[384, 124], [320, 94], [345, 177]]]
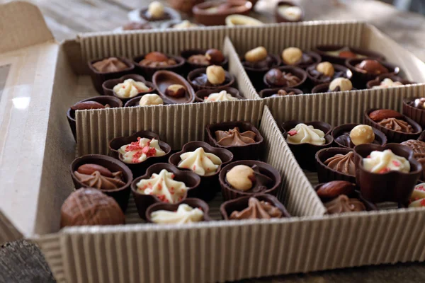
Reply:
[[108, 168], [111, 172], [117, 172], [117, 171], [123, 172], [123, 181], [125, 182], [125, 185], [123, 185], [123, 187], [119, 187], [118, 189], [115, 189], [115, 190], [100, 190], [100, 191], [103, 192], [105, 195], [108, 195], [109, 197], [113, 197], [113, 199], [116, 202], [118, 202], [121, 209], [123, 209], [123, 212], [125, 212], [128, 206], [128, 198], [130, 197], [130, 184], [132, 183], [132, 180], [133, 180], [133, 175], [130, 169], [127, 166], [125, 166], [123, 162], [116, 160], [115, 158], [112, 158], [111, 156], [105, 156], [101, 154], [88, 154], [88, 155], [75, 158], [74, 161], [72, 161], [71, 165], [69, 166], [69, 171], [71, 173], [72, 182], [74, 183], [74, 186], [76, 189], [79, 189], [81, 187], [88, 187], [88, 185], [81, 183], [74, 174], [74, 172], [77, 171], [79, 166], [88, 164], [88, 163], [103, 166], [105, 168]]

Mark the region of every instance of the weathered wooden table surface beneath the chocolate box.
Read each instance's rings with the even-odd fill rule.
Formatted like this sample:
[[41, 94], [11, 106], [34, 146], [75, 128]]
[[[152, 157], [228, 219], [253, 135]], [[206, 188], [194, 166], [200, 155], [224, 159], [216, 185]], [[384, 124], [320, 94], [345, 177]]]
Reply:
[[[0, 3], [9, 0], [0, 0]], [[147, 0], [31, 0], [38, 4], [57, 40], [78, 33], [113, 30]], [[165, 2], [165, 0], [163, 0]], [[425, 60], [425, 18], [374, 0], [302, 0], [306, 20], [368, 21]], [[276, 0], [260, 0], [251, 16], [270, 22]], [[422, 247], [420, 247], [422, 248]], [[0, 282], [55, 282], [40, 250], [28, 241], [0, 249]], [[347, 268], [244, 282], [425, 282], [423, 263]]]

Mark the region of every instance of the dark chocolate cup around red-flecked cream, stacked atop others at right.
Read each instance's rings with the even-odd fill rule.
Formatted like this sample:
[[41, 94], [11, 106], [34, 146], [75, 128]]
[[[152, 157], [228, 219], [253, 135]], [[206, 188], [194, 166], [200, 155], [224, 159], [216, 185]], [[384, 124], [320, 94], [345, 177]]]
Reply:
[[[406, 158], [410, 163], [410, 172], [389, 171], [387, 173], [372, 173], [363, 168], [363, 158], [372, 151], [390, 149], [395, 155]], [[356, 163], [356, 179], [361, 195], [368, 201], [407, 203], [414, 186], [422, 173], [422, 166], [413, 157], [413, 151], [408, 146], [400, 144], [361, 144], [354, 148]]]

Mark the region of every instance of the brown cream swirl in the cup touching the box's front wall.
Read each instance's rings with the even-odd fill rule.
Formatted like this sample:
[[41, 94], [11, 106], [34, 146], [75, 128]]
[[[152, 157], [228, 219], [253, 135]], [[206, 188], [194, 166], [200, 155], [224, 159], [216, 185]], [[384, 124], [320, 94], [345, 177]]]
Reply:
[[234, 211], [229, 219], [271, 219], [282, 217], [282, 212], [269, 202], [250, 197], [248, 207], [241, 212]]

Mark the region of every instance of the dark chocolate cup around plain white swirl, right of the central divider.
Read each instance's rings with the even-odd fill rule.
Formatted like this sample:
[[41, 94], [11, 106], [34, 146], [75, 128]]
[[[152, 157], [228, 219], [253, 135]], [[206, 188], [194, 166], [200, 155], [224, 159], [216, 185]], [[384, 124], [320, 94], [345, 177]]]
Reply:
[[296, 125], [304, 123], [307, 126], [313, 126], [314, 129], [320, 129], [322, 132], [324, 132], [324, 139], [326, 140], [324, 144], [322, 145], [315, 145], [315, 144], [290, 144], [288, 142], [288, 146], [290, 150], [293, 152], [295, 158], [297, 159], [298, 164], [300, 164], [300, 167], [302, 169], [308, 170], [308, 171], [315, 171], [316, 170], [316, 163], [314, 162], [314, 156], [316, 156], [317, 151], [320, 149], [326, 149], [327, 147], [331, 147], [334, 139], [332, 139], [332, 136], [330, 135], [332, 126], [329, 125], [326, 122], [319, 122], [319, 121], [313, 121], [313, 122], [302, 122], [297, 120], [290, 120], [287, 122], [283, 122], [280, 129], [282, 130], [283, 137], [287, 139], [288, 132], [295, 128]]

